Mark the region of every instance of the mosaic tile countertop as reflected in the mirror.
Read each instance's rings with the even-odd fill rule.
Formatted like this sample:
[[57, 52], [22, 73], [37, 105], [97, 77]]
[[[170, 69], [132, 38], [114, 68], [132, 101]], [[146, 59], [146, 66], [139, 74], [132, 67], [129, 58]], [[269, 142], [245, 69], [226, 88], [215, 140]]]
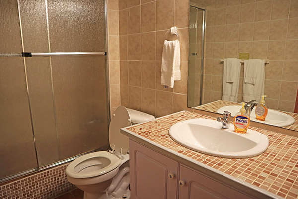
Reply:
[[[224, 106], [230, 106], [230, 105], [241, 105], [241, 104], [236, 103], [236, 102], [231, 102], [231, 101], [218, 100], [218, 101], [214, 101], [214, 102], [206, 103], [204, 105], [197, 106], [197, 107], [195, 107], [195, 109], [216, 113], [219, 108], [224, 107]], [[287, 115], [292, 116], [295, 119], [294, 124], [292, 124], [290, 126], [284, 126], [282, 128], [298, 131], [298, 114], [297, 113], [285, 112], [285, 111], [281, 111], [281, 110], [275, 110], [275, 111], [285, 113]]]

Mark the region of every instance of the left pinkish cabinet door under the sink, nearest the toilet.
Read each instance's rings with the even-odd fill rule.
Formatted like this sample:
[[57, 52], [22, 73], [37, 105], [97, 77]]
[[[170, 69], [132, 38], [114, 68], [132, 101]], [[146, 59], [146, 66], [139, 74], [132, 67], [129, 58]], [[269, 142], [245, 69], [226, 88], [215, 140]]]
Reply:
[[176, 199], [178, 162], [132, 140], [129, 150], [131, 198]]

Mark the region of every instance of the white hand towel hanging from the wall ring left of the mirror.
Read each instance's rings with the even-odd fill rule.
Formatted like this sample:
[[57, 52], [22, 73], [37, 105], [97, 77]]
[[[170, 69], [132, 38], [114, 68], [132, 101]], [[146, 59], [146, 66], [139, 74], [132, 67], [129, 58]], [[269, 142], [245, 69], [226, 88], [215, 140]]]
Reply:
[[180, 73], [180, 43], [179, 40], [163, 43], [161, 60], [161, 85], [174, 87], [174, 81], [181, 79]]

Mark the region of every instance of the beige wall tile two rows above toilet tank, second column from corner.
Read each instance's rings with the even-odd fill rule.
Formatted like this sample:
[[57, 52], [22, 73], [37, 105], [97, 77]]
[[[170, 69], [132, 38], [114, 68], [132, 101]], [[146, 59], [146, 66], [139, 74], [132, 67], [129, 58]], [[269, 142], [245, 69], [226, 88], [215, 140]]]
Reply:
[[128, 84], [130, 86], [141, 86], [141, 62], [128, 62]]

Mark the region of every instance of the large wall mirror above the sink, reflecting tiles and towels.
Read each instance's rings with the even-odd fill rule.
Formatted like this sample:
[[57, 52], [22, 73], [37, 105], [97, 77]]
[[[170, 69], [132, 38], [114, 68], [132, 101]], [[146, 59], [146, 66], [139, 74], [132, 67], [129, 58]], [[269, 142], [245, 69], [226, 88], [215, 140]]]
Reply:
[[274, 1], [241, 4], [240, 1], [190, 0], [188, 107], [218, 113], [222, 107], [239, 105], [243, 101], [244, 64], [241, 64], [238, 100], [224, 101], [223, 60], [239, 59], [240, 53], [245, 53], [248, 59], [269, 62], [265, 64], [267, 107], [294, 119], [294, 124], [287, 126], [267, 124], [298, 131], [295, 113], [298, 31], [291, 25], [297, 16], [294, 5], [287, 3], [287, 9], [281, 12], [278, 9], [281, 5]]

